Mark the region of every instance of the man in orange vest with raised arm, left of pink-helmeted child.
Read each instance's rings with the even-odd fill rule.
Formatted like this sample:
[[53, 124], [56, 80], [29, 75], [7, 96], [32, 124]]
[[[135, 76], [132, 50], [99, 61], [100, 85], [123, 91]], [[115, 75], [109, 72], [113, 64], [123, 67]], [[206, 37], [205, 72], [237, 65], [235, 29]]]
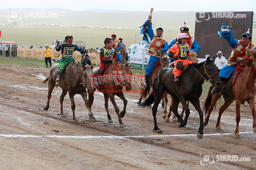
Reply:
[[162, 35], [164, 30], [162, 29], [162, 27], [158, 27], [156, 29], [156, 35], [154, 35], [153, 29], [152, 29], [152, 22], [151, 22], [152, 16], [149, 16], [148, 19], [150, 21], [148, 23], [147, 29], [148, 29], [148, 35], [151, 39], [151, 42], [150, 42], [150, 46], [148, 47], [148, 55], [150, 55], [150, 58], [148, 60], [148, 65], [146, 66], [146, 70], [145, 70], [146, 72], [145, 82], [144, 82], [145, 87], [148, 86], [150, 75], [157, 64], [155, 62], [160, 61], [160, 57], [164, 57], [164, 53], [166, 53], [168, 50], [168, 43], [166, 39], [163, 38], [163, 35]]

